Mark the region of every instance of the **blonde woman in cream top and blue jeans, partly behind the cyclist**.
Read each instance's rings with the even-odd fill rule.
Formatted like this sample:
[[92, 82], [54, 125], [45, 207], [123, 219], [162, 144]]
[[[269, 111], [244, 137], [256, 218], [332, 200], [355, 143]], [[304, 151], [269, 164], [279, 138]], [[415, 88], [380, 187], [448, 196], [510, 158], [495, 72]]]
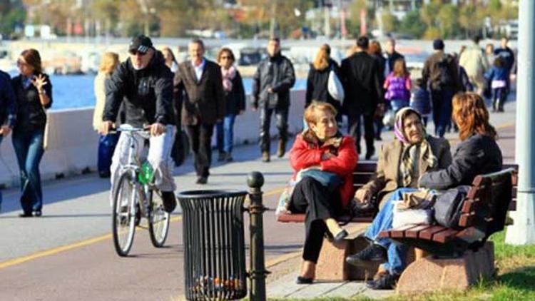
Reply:
[[[93, 128], [98, 131], [102, 123], [102, 114], [106, 105], [106, 81], [111, 77], [111, 73], [119, 64], [119, 55], [115, 52], [106, 52], [102, 56], [101, 64], [98, 66], [98, 73], [95, 77], [93, 90], [95, 92], [95, 111], [93, 112]], [[98, 138], [98, 175], [101, 178], [109, 178], [111, 175], [111, 157], [115, 146], [119, 140], [119, 134], [101, 135]]]

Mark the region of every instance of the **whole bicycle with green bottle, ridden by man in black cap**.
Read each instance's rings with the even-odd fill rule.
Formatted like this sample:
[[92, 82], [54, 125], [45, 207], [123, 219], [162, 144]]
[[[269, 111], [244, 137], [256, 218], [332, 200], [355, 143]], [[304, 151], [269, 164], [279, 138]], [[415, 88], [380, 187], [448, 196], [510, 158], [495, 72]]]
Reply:
[[116, 131], [131, 136], [128, 162], [121, 165], [120, 176], [113, 189], [113, 245], [117, 254], [124, 257], [132, 248], [136, 225], [141, 218], [148, 220], [153, 246], [162, 248], [169, 232], [170, 214], [164, 210], [161, 191], [154, 185], [151, 165], [142, 163], [136, 152], [139, 146], [135, 136], [147, 139], [150, 133], [144, 128], [126, 125], [121, 125]]

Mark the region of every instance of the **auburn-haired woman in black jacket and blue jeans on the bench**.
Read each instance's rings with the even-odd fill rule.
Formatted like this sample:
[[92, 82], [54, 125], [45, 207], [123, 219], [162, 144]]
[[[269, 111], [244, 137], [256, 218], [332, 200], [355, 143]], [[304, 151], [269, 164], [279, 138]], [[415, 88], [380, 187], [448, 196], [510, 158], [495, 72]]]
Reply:
[[[496, 143], [497, 133], [489, 123], [489, 111], [485, 102], [476, 93], [458, 93], [453, 98], [453, 119], [459, 126], [459, 139], [452, 164], [446, 168], [424, 173], [418, 180], [418, 187], [429, 190], [447, 190], [459, 185], [471, 185], [476, 175], [494, 173], [502, 168], [502, 155]], [[377, 238], [384, 230], [392, 229], [394, 201], [404, 193], [414, 192], [412, 188], [398, 189], [379, 211], [366, 237], [372, 245], [346, 260], [352, 265], [363, 262], [382, 261], [382, 274], [370, 282], [373, 289], [392, 288], [405, 267], [407, 247], [392, 243], [388, 238]]]

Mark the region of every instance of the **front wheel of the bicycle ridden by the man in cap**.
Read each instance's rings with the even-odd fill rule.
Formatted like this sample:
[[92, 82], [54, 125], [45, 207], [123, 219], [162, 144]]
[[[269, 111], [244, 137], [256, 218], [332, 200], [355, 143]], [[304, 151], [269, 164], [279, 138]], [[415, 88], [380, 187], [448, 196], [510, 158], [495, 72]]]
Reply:
[[125, 172], [113, 193], [113, 245], [121, 257], [128, 255], [136, 231], [136, 191], [131, 173]]

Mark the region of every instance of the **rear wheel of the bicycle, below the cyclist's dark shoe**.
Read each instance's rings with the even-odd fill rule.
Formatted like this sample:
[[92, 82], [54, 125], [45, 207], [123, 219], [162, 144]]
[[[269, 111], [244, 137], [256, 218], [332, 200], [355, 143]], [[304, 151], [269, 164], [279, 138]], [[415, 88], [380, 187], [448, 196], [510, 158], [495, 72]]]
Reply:
[[148, 193], [148, 233], [156, 248], [162, 248], [169, 233], [170, 214], [163, 208], [159, 190], [151, 189]]

